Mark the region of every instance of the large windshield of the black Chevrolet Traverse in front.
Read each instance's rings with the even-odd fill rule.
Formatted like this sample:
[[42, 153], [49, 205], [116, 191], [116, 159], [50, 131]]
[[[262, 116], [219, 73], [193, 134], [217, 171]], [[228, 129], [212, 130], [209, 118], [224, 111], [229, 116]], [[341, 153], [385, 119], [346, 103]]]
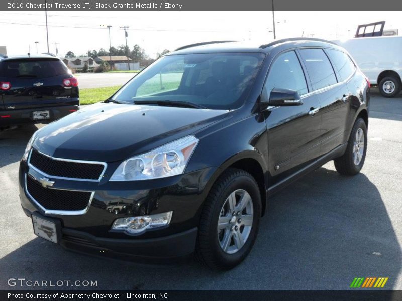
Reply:
[[234, 109], [261, 66], [261, 53], [168, 55], [134, 77], [112, 100], [125, 103], [192, 103], [208, 109]]

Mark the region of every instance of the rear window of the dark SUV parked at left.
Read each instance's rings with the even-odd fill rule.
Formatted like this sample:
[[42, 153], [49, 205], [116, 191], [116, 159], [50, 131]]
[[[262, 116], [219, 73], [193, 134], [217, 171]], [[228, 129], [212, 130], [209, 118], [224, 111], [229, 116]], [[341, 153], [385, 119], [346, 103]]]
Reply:
[[45, 78], [68, 73], [60, 60], [7, 60], [0, 63], [0, 74], [11, 78]]

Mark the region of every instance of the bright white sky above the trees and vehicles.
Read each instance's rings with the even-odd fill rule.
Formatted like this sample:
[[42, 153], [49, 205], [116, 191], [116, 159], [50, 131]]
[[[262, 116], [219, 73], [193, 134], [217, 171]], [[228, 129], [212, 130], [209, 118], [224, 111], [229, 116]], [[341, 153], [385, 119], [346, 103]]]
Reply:
[[[343, 39], [352, 37], [359, 24], [385, 20], [386, 29], [402, 29], [400, 12], [275, 12], [276, 37]], [[8, 54], [47, 51], [44, 12], [0, 12], [0, 46]], [[130, 48], [138, 44], [155, 57], [163, 49], [203, 41], [273, 39], [272, 12], [48, 12], [49, 50], [59, 55], [73, 51], [109, 49], [125, 44], [120, 26], [130, 26]]]

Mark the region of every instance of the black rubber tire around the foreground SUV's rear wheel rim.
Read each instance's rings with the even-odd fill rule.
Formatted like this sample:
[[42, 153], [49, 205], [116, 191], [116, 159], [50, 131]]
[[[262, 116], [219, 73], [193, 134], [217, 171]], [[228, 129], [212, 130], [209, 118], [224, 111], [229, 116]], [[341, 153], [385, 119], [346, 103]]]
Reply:
[[[356, 133], [359, 129], [363, 131], [364, 149], [360, 163], [356, 165], [353, 161], [354, 156], [353, 149], [354, 149]], [[334, 160], [336, 171], [342, 175], [349, 175], [349, 176], [358, 174], [363, 167], [364, 160], [366, 159], [366, 152], [367, 152], [367, 126], [366, 122], [364, 122], [362, 118], [358, 118], [355, 124], [353, 125], [352, 132], [350, 133], [348, 146], [346, 147], [345, 153], [343, 154], [343, 156], [336, 158]]]

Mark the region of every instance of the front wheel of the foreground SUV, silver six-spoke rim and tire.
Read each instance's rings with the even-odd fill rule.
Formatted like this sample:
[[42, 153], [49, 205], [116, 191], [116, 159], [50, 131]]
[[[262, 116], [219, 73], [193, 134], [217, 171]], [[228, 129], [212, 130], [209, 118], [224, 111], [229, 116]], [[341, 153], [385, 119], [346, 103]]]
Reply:
[[213, 269], [235, 267], [251, 251], [261, 217], [261, 195], [246, 171], [228, 169], [211, 189], [199, 225], [196, 257]]

